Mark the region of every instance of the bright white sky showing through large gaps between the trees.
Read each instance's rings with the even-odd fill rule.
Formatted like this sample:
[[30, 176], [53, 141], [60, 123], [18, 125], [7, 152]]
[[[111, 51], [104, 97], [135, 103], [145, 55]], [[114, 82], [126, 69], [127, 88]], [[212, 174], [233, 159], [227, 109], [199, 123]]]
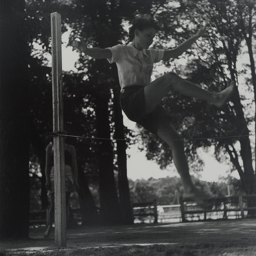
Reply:
[[[72, 47], [66, 47], [68, 42], [68, 34], [69, 31], [63, 33], [62, 35], [62, 69], [64, 71], [74, 70], [76, 71], [75, 62], [79, 58], [79, 54], [76, 51], [72, 51]], [[34, 44], [34, 47], [40, 47], [37, 44]], [[51, 65], [51, 58], [48, 65]], [[123, 113], [124, 115], [124, 113]], [[135, 129], [135, 123], [130, 121], [124, 115], [124, 125], [129, 129]], [[203, 172], [200, 172], [201, 179], [206, 181], [218, 181], [220, 176], [227, 176], [229, 173], [229, 166], [226, 164], [218, 163], [214, 157], [212, 157], [214, 148], [211, 148], [209, 153], [203, 152], [200, 150], [200, 155], [205, 162]], [[148, 179], [153, 177], [155, 179], [164, 178], [164, 177], [172, 177], [178, 176], [178, 172], [174, 167], [170, 168], [170, 170], [161, 170], [159, 166], [150, 160], [147, 160], [145, 156], [145, 152], [140, 152], [135, 145], [132, 145], [131, 148], [127, 149], [126, 153], [130, 155], [130, 158], [127, 158], [127, 176], [132, 180], [136, 179]], [[239, 179], [239, 175], [237, 172], [233, 172], [232, 176]]]

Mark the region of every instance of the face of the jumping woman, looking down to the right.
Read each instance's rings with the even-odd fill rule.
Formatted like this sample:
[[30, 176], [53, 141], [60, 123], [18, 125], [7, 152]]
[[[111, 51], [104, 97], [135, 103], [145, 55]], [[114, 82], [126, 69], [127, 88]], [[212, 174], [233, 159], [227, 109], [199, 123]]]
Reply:
[[135, 29], [135, 43], [140, 49], [148, 49], [153, 43], [153, 39], [156, 36], [155, 28], [146, 28], [143, 30]]

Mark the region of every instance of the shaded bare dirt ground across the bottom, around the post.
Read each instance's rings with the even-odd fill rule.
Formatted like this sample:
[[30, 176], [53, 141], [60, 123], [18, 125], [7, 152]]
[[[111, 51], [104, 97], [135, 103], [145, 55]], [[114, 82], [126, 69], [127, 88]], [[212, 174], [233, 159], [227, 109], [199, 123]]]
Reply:
[[31, 228], [30, 239], [0, 241], [0, 256], [247, 256], [256, 255], [256, 220], [134, 224], [67, 230], [67, 247], [54, 246], [54, 232]]

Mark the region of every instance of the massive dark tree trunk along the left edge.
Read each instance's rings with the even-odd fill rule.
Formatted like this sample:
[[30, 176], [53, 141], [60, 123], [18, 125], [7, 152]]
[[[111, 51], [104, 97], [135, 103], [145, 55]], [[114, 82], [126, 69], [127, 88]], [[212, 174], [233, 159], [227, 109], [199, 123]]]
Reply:
[[0, 2], [0, 236], [28, 237], [28, 51], [24, 0]]

